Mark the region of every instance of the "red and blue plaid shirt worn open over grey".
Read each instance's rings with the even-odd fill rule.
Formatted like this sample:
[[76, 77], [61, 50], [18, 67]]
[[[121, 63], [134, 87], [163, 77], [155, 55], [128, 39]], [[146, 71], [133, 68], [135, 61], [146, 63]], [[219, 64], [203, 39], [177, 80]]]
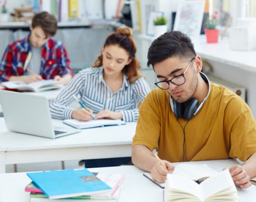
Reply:
[[[9, 44], [0, 63], [0, 80], [8, 81], [11, 76], [26, 75], [23, 71], [24, 62], [31, 50], [29, 35]], [[49, 38], [42, 49], [40, 75], [43, 79], [53, 79], [56, 75], [71, 74], [70, 60], [64, 44]]]

